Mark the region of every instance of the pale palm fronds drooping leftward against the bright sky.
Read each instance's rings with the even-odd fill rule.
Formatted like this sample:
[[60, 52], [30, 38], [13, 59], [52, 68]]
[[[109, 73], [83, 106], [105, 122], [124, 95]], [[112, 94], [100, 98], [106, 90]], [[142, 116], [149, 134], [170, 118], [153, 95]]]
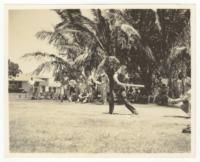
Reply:
[[[59, 15], [59, 10], [55, 10]], [[69, 11], [73, 13], [72, 11]], [[62, 18], [63, 16], [61, 16]], [[62, 21], [63, 23], [64, 21]], [[57, 25], [58, 26], [58, 25]], [[57, 26], [55, 28], [57, 28]], [[40, 66], [38, 66], [33, 74], [40, 74], [43, 71], [53, 71], [53, 76], [56, 80], [63, 81], [64, 75], [73, 74], [72, 72], [78, 72], [79, 69], [73, 66], [74, 60], [80, 55], [84, 49], [76, 41], [73, 40], [71, 33], [63, 34], [57, 30], [53, 31], [39, 31], [36, 33], [36, 38], [41, 40], [47, 40], [50, 45], [57, 48], [58, 53], [48, 54], [43, 52], [27, 53], [22, 58], [34, 58], [37, 60], [44, 60]]]

